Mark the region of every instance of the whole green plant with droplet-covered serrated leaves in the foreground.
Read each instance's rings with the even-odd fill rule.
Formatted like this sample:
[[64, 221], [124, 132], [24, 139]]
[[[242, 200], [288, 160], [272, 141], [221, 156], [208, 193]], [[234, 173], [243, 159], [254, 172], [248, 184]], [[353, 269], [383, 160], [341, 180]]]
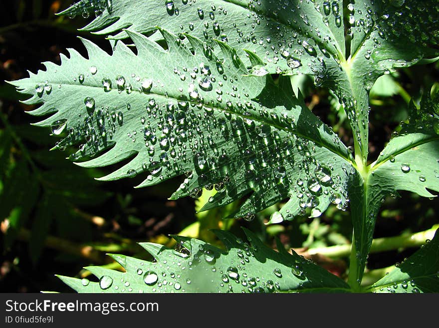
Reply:
[[[96, 14], [84, 30], [108, 35], [112, 53], [82, 39], [86, 57], [69, 49], [60, 65], [45, 62], [10, 83], [31, 95], [25, 103], [41, 104], [30, 114], [63, 137], [55, 148], [78, 146], [76, 164], [123, 162], [99, 180], [142, 176], [138, 188], [184, 176], [171, 199], [202, 197], [200, 211], [226, 206], [226, 218], [251, 221], [287, 200], [269, 224], [318, 218], [335, 205], [350, 208], [353, 226], [346, 281], [249, 230], [247, 240], [214, 230], [225, 249], [174, 236], [175, 249], [141, 244], [154, 262], [113, 254], [125, 273], [88, 267], [99, 282], [60, 277], [66, 284], [111, 293], [439, 291], [439, 237], [362, 284], [371, 251], [410, 246], [404, 237], [373, 242], [385, 197], [439, 191], [437, 87], [415, 103], [390, 77], [437, 59], [437, 1], [81, 0], [61, 14]], [[300, 75], [330, 90], [353, 146], [308, 108]], [[389, 89], [372, 89], [380, 76]], [[370, 93], [410, 101], [409, 119], [372, 161]]]

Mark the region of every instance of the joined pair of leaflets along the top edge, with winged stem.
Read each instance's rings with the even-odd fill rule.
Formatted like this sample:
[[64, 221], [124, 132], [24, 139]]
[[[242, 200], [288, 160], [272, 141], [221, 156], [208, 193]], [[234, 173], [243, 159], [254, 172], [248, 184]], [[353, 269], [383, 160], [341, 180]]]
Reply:
[[436, 0], [345, 1], [344, 14], [343, 2], [81, 0], [61, 14], [102, 12], [83, 29], [118, 32], [115, 38], [128, 36], [123, 28], [148, 33], [160, 25], [175, 34], [189, 32], [214, 47], [214, 39], [221, 39], [239, 55], [243, 49], [254, 51], [266, 64], [266, 73], [312, 74], [316, 85], [331, 88], [343, 103], [357, 139], [356, 152], [366, 164], [368, 90], [389, 69], [439, 54], [439, 5]]

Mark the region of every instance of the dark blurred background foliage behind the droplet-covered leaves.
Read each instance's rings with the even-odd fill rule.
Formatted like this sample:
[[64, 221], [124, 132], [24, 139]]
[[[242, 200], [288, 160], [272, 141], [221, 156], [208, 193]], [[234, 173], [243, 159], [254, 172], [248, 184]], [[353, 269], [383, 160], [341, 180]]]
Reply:
[[[110, 51], [102, 37], [77, 31], [87, 17], [68, 19], [54, 15], [72, 0], [15, 0], [2, 3], [0, 12], [0, 291], [71, 292], [54, 274], [84, 278], [88, 265], [113, 269], [118, 264], [105, 253], [123, 253], [149, 259], [137, 242], [174, 246], [170, 234], [200, 238], [219, 244], [209, 229], [242, 235], [240, 226], [255, 232], [275, 248], [279, 238], [287, 248], [346, 276], [352, 224], [349, 210], [330, 207], [321, 217], [296, 217], [293, 222], [266, 226], [276, 204], [258, 213], [252, 222], [222, 219], [238, 206], [196, 213], [212, 191], [200, 199], [167, 198], [181, 183], [169, 180], [158, 186], [134, 189], [143, 177], [98, 182], [112, 168], [84, 169], [65, 159], [65, 152], [49, 151], [57, 141], [51, 131], [33, 127], [25, 112], [32, 106], [4, 80], [42, 69], [41, 60], [60, 62], [67, 47], [84, 52], [76, 37], [84, 36]], [[82, 49], [82, 50], [81, 50]], [[414, 66], [381, 77], [371, 90], [370, 159], [378, 156], [398, 127], [407, 119], [407, 104], [419, 103], [423, 94], [439, 89], [439, 64]], [[334, 94], [314, 87], [309, 76], [294, 76], [292, 84], [306, 96], [308, 107], [332, 126], [346, 145], [352, 135], [343, 109]], [[436, 92], [435, 91], [435, 92]], [[139, 181], [135, 181], [135, 180]], [[438, 223], [439, 204], [402, 192], [386, 199], [377, 220], [376, 242], [369, 257], [365, 283], [389, 271], [389, 266], [411, 255], [432, 235]], [[413, 235], [427, 231], [425, 234]], [[388, 237], [400, 236], [397, 239]], [[412, 238], [415, 236], [416, 238]], [[417, 239], [419, 237], [419, 239]], [[384, 245], [384, 246], [383, 246]], [[379, 252], [379, 253], [378, 253]]]

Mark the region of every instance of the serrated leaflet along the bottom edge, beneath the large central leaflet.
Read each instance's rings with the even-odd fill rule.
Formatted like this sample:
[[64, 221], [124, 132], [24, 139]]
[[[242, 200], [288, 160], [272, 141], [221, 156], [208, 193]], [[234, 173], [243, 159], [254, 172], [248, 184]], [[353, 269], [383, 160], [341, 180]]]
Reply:
[[[175, 236], [179, 250], [140, 244], [155, 262], [110, 255], [125, 273], [86, 268], [99, 283], [59, 276], [79, 293], [336, 293], [349, 286], [325, 269], [293, 253], [275, 252], [244, 230], [250, 244], [216, 230], [226, 251], [197, 239]], [[280, 245], [281, 246], [281, 245]], [[280, 249], [280, 248], [279, 248]]]

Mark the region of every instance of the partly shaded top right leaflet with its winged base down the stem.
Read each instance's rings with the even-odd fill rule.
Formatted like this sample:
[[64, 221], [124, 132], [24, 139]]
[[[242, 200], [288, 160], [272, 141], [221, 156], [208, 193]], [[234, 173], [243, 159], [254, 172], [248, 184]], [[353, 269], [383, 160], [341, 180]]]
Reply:
[[[416, 64], [438, 55], [438, 1], [359, 0], [348, 4], [351, 56], [345, 70], [346, 94], [357, 102], [348, 119], [366, 163], [368, 140], [368, 91], [375, 80], [393, 68]], [[344, 81], [346, 82], [346, 81]], [[342, 95], [343, 96], [343, 95]], [[340, 96], [339, 96], [340, 98]], [[349, 108], [349, 107], [348, 107]], [[350, 109], [350, 108], [349, 108]], [[357, 122], [357, 126], [355, 123]], [[366, 143], [365, 143], [366, 142]]]

